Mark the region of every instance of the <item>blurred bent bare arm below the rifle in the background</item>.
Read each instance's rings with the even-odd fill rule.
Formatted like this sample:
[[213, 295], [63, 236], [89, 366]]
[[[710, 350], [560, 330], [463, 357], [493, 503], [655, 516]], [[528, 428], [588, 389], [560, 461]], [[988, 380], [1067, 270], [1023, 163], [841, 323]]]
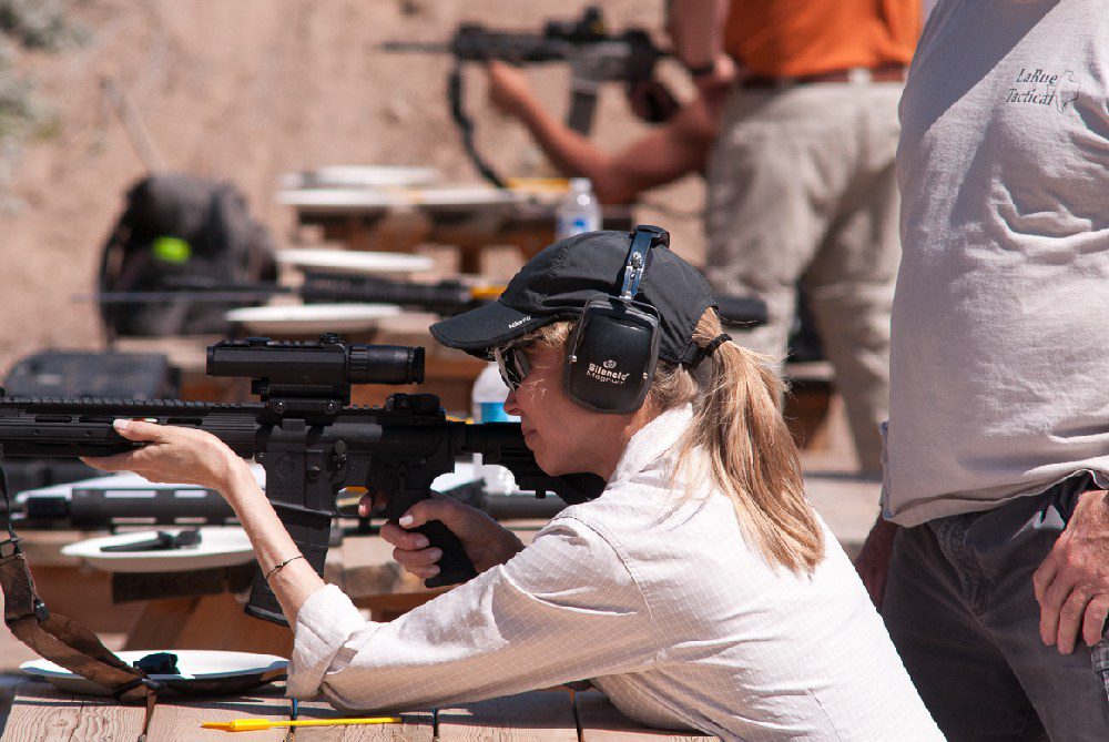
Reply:
[[522, 72], [500, 62], [491, 62], [488, 72], [490, 101], [527, 126], [561, 173], [590, 179], [601, 203], [631, 203], [648, 189], [701, 171], [716, 135], [718, 122], [698, 98], [665, 124], [609, 154], [548, 113]]

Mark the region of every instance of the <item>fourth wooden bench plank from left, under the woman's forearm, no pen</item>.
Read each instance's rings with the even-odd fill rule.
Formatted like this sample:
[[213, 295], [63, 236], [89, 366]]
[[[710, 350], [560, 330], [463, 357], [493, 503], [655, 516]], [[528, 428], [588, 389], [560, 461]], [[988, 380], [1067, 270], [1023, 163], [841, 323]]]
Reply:
[[564, 691], [536, 691], [439, 709], [437, 723], [439, 742], [578, 742], [573, 702]]

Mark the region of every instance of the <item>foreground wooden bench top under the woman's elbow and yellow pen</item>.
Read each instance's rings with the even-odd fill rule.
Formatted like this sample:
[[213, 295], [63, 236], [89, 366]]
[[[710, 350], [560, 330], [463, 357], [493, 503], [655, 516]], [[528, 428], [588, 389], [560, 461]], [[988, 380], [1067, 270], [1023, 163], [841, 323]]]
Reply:
[[[113, 740], [132, 742], [142, 732], [144, 709], [112, 699], [61, 693], [40, 682], [20, 685], [0, 742]], [[348, 716], [326, 703], [302, 702], [297, 719]], [[227, 732], [202, 729], [202, 722], [233, 719], [288, 721], [292, 705], [281, 683], [248, 695], [190, 698], [164, 695], [151, 719], [146, 742], [225, 740]], [[647, 729], [623, 714], [600, 693], [552, 689], [477, 703], [401, 714], [399, 724], [275, 728], [250, 732], [244, 739], [295, 742], [692, 742], [720, 738]]]

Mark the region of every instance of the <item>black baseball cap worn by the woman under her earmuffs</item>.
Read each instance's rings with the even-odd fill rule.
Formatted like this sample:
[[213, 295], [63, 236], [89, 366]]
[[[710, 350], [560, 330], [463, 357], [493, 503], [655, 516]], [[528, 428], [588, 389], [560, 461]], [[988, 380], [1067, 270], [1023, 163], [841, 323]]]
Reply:
[[[490, 358], [495, 347], [559, 319], [577, 319], [598, 294], [619, 296], [633, 235], [586, 232], [556, 242], [520, 268], [500, 298], [437, 322], [431, 335], [448, 347]], [[705, 309], [716, 306], [704, 276], [669, 247], [654, 246], [634, 301], [659, 313], [659, 357], [674, 365], [692, 363], [693, 331]]]

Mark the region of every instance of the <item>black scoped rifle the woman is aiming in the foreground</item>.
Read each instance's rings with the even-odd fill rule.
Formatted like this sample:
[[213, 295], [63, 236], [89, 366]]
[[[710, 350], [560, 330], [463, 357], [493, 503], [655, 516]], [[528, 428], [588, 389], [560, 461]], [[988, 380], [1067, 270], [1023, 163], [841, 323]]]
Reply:
[[[485, 463], [508, 468], [521, 489], [539, 497], [550, 491], [579, 502], [603, 487], [594, 475], [548, 476], [525, 445], [518, 424], [449, 421], [434, 395], [397, 394], [384, 407], [349, 405], [352, 384], [421, 382], [419, 347], [347, 345], [334, 335], [309, 343], [224, 340], [208, 348], [207, 370], [213, 376], [252, 378], [252, 392], [261, 402], [226, 405], [0, 394], [0, 455], [105, 456], [140, 447], [112, 428], [121, 417], [206, 430], [264, 466], [266, 497], [321, 575], [336, 516], [335, 498], [348, 485], [385, 492], [390, 519], [429, 497], [431, 481], [468, 454], [481, 454]], [[20, 553], [10, 521], [8, 526], [10, 538], [0, 541], [0, 562], [6, 546]], [[418, 530], [442, 549], [441, 572], [426, 581], [428, 587], [476, 575], [461, 543], [441, 522]], [[261, 571], [245, 611], [287, 623]]]

